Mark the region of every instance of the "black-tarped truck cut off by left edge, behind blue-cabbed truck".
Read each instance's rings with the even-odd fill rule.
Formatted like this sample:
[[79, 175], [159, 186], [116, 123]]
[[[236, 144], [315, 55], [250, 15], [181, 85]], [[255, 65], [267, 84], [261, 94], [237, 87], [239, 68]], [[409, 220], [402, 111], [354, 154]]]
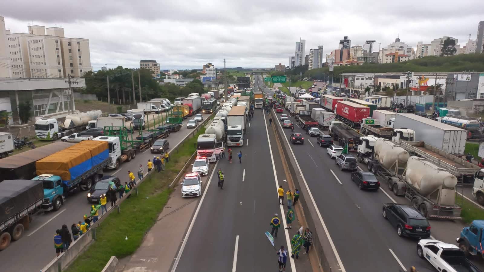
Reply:
[[43, 200], [42, 182], [21, 179], [0, 183], [0, 250], [22, 238], [29, 229], [30, 216], [40, 210]]

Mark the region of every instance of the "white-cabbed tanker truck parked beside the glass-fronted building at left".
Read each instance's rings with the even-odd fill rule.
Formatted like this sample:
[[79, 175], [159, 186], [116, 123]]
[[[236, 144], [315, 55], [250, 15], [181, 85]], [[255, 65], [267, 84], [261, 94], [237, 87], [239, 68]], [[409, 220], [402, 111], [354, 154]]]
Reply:
[[81, 112], [65, 116], [65, 120], [57, 121], [55, 118], [42, 118], [35, 121], [35, 136], [39, 140], [56, 141], [72, 133], [82, 131], [89, 121], [101, 117], [100, 110]]

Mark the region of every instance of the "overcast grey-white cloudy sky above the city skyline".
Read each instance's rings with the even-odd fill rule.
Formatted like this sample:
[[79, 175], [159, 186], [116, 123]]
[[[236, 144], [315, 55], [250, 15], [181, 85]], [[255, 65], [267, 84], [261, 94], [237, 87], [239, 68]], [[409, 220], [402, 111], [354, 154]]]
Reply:
[[400, 41], [415, 48], [442, 36], [464, 46], [475, 40], [484, 20], [483, 0], [16, 0], [0, 1], [0, 16], [12, 33], [27, 26], [63, 27], [66, 37], [90, 41], [94, 70], [139, 67], [155, 59], [162, 69], [288, 65], [295, 43], [336, 49], [348, 36], [351, 45], [376, 40], [381, 47]]

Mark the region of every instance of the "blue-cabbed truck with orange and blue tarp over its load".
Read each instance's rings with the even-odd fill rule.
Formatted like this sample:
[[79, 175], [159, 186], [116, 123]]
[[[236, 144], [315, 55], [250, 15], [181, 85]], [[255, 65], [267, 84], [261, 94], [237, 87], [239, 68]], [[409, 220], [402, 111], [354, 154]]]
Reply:
[[106, 142], [84, 141], [36, 161], [33, 180], [44, 186], [42, 210], [59, 210], [67, 192], [90, 190], [103, 176], [109, 149]]

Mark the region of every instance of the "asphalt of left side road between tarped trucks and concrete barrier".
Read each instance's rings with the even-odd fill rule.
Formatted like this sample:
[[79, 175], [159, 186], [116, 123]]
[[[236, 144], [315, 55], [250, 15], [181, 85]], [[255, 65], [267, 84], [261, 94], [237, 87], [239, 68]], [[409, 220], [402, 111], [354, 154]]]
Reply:
[[[204, 117], [207, 116], [209, 115], [204, 115]], [[183, 121], [183, 128], [180, 131], [170, 133], [169, 137], [166, 138], [170, 143], [170, 150], [180, 143], [189, 133], [194, 131], [194, 129], [184, 127], [186, 122], [191, 118], [188, 117]], [[105, 170], [104, 175], [116, 175], [120, 177], [121, 182], [127, 181], [128, 170], [136, 173], [139, 164], [142, 164], [147, 172], [146, 163], [148, 159], [153, 159], [153, 155], [149, 149], [141, 151], [130, 162], [121, 164], [118, 170]], [[84, 221], [83, 215], [89, 214], [90, 206], [91, 204], [87, 201], [87, 192], [80, 191], [69, 196], [59, 211], [37, 213], [34, 215], [33, 221], [30, 223], [30, 228], [26, 230], [24, 236], [18, 241], [13, 241], [7, 249], [0, 253], [1, 270], [39, 271], [45, 267], [56, 256], [52, 240], [56, 229], [61, 229], [61, 226], [66, 224], [70, 230], [73, 223]], [[110, 204], [107, 203], [107, 206], [110, 207]], [[101, 211], [99, 215], [101, 215]], [[25, 261], [27, 256], [28, 261]]]

